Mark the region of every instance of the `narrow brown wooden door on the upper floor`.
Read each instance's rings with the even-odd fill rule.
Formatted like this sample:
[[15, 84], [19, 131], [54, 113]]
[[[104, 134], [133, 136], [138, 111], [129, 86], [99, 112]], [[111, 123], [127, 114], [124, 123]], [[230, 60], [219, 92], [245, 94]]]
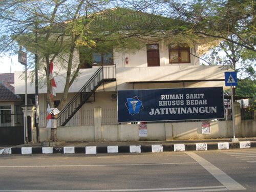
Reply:
[[148, 67], [160, 66], [159, 49], [157, 44], [147, 46], [146, 57]]

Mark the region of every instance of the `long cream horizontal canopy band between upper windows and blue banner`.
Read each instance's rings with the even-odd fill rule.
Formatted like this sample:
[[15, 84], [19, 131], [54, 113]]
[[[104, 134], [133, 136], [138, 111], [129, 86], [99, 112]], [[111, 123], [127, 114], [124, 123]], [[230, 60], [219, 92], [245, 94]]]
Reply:
[[[96, 72], [97, 68], [81, 69], [77, 79], [74, 81], [69, 89], [70, 93], [77, 93], [82, 86], [90, 79]], [[216, 87], [223, 86], [224, 72], [228, 71], [222, 66], [165, 66], [165, 67], [130, 67], [117, 68], [117, 82], [105, 83], [98, 88], [97, 91], [116, 91], [116, 84], [118, 90], [133, 89], [132, 82], [148, 82], [151, 81], [200, 81], [200, 82], [186, 82], [186, 87]], [[15, 94], [25, 94], [25, 81], [20, 77], [22, 72], [15, 72]], [[44, 78], [41, 76], [40, 78]], [[63, 93], [65, 75], [58, 75], [54, 77], [57, 84], [56, 93]], [[203, 81], [201, 81], [203, 80]], [[208, 81], [205, 81], [208, 80]], [[219, 80], [219, 81], [216, 81]], [[197, 84], [198, 83], [198, 84]], [[179, 86], [180, 87], [180, 86]], [[183, 87], [183, 86], [182, 86]], [[46, 93], [46, 84], [44, 79], [40, 84], [39, 94]], [[35, 84], [31, 83], [28, 78], [28, 94], [35, 93]]]

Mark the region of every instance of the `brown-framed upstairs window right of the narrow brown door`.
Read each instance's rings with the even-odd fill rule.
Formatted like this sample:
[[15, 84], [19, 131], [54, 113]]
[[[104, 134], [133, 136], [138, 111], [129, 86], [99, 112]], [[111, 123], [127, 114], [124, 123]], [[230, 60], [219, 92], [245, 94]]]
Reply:
[[169, 63], [190, 63], [189, 47], [169, 46]]

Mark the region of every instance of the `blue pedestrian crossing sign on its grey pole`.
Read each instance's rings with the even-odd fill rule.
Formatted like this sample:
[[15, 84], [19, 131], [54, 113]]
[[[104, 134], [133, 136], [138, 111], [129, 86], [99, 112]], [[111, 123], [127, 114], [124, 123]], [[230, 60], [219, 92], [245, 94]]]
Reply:
[[234, 124], [234, 106], [233, 106], [233, 86], [238, 86], [237, 72], [225, 72], [225, 85], [230, 86], [230, 95], [231, 95], [233, 138], [230, 139], [230, 141], [238, 142], [239, 140], [236, 138], [236, 126]]

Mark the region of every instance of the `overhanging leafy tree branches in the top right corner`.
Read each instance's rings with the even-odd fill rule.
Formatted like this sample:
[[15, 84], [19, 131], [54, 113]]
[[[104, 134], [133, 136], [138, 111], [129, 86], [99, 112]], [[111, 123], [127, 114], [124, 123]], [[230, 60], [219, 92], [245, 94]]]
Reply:
[[[233, 42], [256, 52], [256, 9], [253, 0], [197, 0], [168, 2], [177, 16], [194, 24], [193, 32], [202, 37]], [[170, 14], [174, 14], [173, 12]]]

